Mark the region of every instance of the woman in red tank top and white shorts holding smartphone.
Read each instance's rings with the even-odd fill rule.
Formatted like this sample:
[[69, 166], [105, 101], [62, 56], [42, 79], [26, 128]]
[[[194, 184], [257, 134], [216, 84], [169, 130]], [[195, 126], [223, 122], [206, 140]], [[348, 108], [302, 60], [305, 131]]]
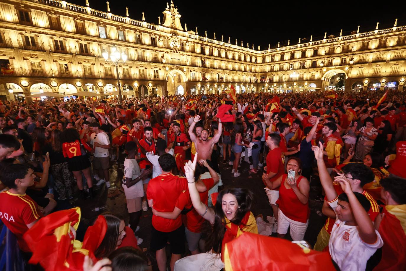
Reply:
[[309, 225], [309, 181], [300, 174], [302, 162], [297, 157], [289, 158], [286, 171], [288, 174], [281, 175], [269, 187], [279, 187], [278, 237], [284, 238], [290, 226], [292, 240], [302, 241]]

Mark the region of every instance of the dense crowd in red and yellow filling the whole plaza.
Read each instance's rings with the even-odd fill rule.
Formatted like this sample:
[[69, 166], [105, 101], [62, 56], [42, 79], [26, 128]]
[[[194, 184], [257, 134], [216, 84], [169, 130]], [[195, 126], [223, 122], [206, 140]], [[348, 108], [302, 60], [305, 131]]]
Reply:
[[[258, 234], [259, 197], [273, 238], [307, 249], [309, 202], [322, 203], [310, 248], [334, 270], [406, 270], [405, 165], [405, 96], [392, 90], [0, 102], [0, 217], [24, 270], [245, 270], [229, 269], [245, 251], [227, 244]], [[240, 167], [262, 194], [223, 187]], [[128, 215], [104, 212], [76, 240], [80, 208], [56, 207], [84, 207], [104, 185], [122, 187]], [[135, 233], [149, 209], [146, 254]]]

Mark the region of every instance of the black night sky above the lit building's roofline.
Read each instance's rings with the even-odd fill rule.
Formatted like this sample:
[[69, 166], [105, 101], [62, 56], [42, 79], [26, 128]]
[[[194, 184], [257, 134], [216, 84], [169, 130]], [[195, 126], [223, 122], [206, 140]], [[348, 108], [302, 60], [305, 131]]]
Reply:
[[[170, 2], [170, 0], [168, 0]], [[85, 6], [85, 0], [67, 0], [73, 4]], [[147, 1], [114, 1], [110, 0], [111, 13], [125, 16], [125, 7], [129, 9], [130, 18], [141, 20], [142, 12], [145, 21], [158, 24], [158, 16], [163, 18], [162, 11], [166, 7], [166, 0]], [[100, 11], [107, 11], [104, 0], [89, 0], [90, 7]], [[245, 3], [245, 4], [242, 4]], [[375, 29], [379, 22], [379, 29], [392, 27], [395, 18], [397, 26], [406, 25], [406, 3], [404, 1], [181, 1], [174, 0], [178, 12], [182, 15], [181, 24], [186, 23], [188, 30], [198, 28], [198, 33], [217, 40], [224, 35], [224, 40], [244, 47], [247, 42], [252, 43], [255, 50], [258, 45], [261, 50], [267, 49], [268, 44], [276, 46], [278, 41], [287, 44], [297, 44], [300, 38], [313, 41], [322, 39], [324, 32], [327, 36], [338, 36], [340, 29], [343, 35], [349, 35], [360, 25], [360, 32]], [[402, 3], [402, 4], [400, 4]], [[302, 41], [303, 43], [306, 41]]]

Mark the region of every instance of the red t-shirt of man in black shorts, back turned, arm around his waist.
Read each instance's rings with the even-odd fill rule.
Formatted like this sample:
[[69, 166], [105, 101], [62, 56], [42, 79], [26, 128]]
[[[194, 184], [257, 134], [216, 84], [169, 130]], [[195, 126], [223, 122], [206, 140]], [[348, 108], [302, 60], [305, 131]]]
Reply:
[[[153, 200], [153, 208], [158, 212], [172, 212], [179, 195], [186, 191], [188, 191], [186, 178], [167, 173], [149, 181], [147, 199]], [[172, 232], [182, 225], [182, 220], [180, 215], [176, 219], [152, 215], [152, 225], [160, 232]]]

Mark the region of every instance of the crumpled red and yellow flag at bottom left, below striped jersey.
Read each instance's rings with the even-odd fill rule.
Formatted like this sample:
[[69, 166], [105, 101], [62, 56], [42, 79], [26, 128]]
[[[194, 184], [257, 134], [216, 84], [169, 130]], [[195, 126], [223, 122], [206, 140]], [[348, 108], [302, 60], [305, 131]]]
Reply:
[[79, 221], [79, 207], [39, 219], [23, 236], [32, 251], [29, 263], [39, 263], [46, 271], [83, 270], [88, 251], [81, 248], [80, 241], [73, 239], [70, 228], [77, 230]]

